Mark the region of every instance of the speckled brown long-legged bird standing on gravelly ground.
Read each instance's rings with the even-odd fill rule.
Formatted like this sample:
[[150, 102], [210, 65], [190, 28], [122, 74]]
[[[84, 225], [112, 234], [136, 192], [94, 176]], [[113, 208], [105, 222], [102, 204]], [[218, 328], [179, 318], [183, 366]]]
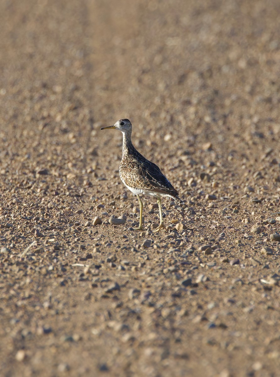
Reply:
[[139, 195], [151, 195], [157, 199], [159, 207], [159, 226], [155, 232], [165, 227], [162, 219], [161, 198], [167, 196], [184, 204], [179, 198], [179, 192], [171, 185], [159, 167], [147, 160], [132, 144], [132, 124], [128, 119], [119, 119], [113, 126], [102, 127], [101, 130], [116, 129], [122, 132], [122, 159], [119, 166], [119, 175], [124, 185], [137, 196], [140, 206], [139, 227], [134, 230], [144, 230], [142, 224], [143, 203]]

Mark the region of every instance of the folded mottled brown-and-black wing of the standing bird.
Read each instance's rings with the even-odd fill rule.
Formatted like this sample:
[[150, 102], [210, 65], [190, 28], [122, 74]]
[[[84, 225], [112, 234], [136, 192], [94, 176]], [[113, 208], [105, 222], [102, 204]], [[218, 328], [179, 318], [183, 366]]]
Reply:
[[168, 179], [162, 174], [156, 164], [145, 159], [142, 155], [121, 161], [119, 173], [121, 178], [134, 189], [153, 190], [158, 193], [177, 196]]

